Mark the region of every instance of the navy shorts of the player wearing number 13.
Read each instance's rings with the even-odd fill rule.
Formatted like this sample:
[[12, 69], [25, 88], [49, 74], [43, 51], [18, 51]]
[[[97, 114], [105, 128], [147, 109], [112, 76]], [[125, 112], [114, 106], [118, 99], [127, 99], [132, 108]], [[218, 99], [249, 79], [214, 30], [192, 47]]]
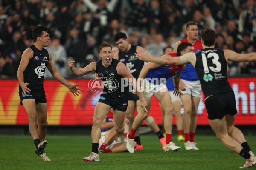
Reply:
[[236, 99], [233, 91], [210, 96], [204, 103], [209, 120], [222, 119], [226, 114], [237, 114]]

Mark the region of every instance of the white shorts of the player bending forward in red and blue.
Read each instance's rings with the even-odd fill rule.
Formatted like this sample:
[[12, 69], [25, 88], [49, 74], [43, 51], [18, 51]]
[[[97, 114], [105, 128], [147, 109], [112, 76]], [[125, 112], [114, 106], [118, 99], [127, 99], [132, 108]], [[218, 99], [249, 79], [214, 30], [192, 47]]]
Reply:
[[152, 84], [151, 82], [148, 82], [148, 80], [144, 79], [141, 90], [143, 91], [144, 97], [152, 97], [154, 93], [161, 91], [165, 92], [167, 91], [166, 84], [161, 83], [159, 85]]

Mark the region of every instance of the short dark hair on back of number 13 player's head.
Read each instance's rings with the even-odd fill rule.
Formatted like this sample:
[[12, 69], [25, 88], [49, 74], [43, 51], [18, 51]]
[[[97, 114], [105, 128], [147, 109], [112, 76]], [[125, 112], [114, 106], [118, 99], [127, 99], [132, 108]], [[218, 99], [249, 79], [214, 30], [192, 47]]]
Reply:
[[215, 43], [216, 33], [212, 29], [205, 28], [201, 31], [201, 39], [204, 41], [205, 46], [212, 46]]

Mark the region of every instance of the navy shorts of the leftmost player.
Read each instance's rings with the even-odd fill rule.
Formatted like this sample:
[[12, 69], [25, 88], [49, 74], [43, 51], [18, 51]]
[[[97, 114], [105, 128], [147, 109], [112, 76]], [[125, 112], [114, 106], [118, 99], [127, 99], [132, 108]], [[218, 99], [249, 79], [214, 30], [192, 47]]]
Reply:
[[24, 99], [35, 99], [35, 104], [47, 102], [44, 89], [42, 90], [30, 89], [30, 90], [31, 90], [30, 93], [26, 93], [26, 95], [23, 95], [22, 88], [19, 86], [20, 105], [23, 105], [22, 101]]

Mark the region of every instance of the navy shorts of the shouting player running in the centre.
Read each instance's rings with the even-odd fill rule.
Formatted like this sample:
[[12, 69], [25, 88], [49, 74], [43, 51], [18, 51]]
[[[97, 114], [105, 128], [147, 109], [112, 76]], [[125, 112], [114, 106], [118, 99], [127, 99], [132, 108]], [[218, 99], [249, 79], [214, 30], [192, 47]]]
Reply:
[[113, 108], [113, 110], [126, 111], [128, 106], [128, 95], [126, 96], [111, 96], [111, 94], [101, 94], [99, 102], [105, 103]]

